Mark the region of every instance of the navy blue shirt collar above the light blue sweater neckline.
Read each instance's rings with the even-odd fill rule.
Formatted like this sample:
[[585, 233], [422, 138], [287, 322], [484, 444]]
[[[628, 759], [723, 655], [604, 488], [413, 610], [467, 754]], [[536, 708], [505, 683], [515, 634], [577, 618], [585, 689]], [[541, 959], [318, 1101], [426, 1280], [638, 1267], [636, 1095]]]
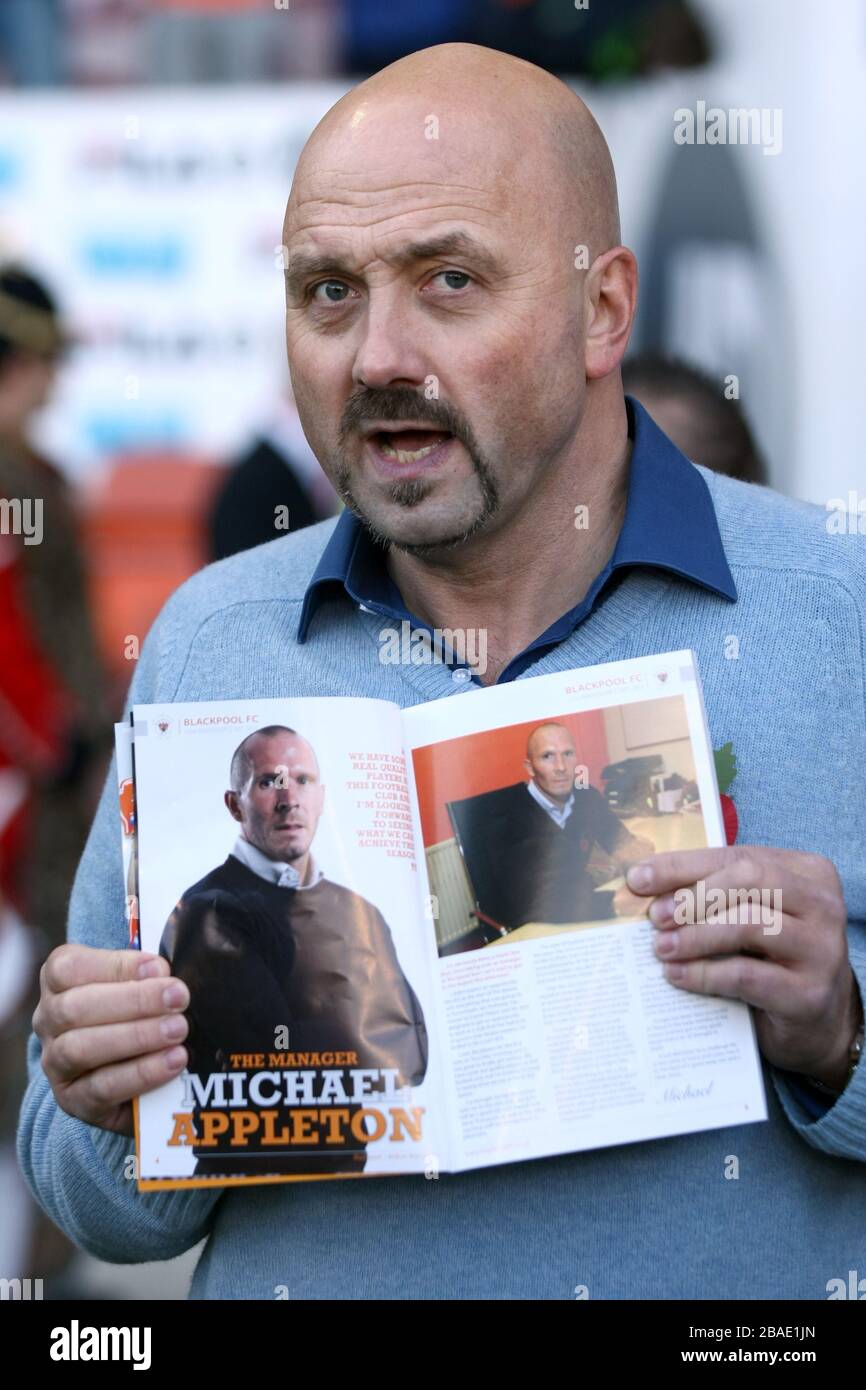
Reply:
[[[502, 673], [500, 681], [528, 664], [521, 659], [530, 652], [537, 653], [539, 646], [560, 642], [588, 617], [616, 570], [631, 566], [669, 570], [712, 594], [731, 602], [737, 599], [706, 481], [639, 402], [626, 396], [626, 409], [632, 450], [626, 517], [613, 555], [581, 602], [521, 652]], [[341, 513], [304, 594], [299, 642], [306, 642], [314, 613], [334, 585], [363, 607], [428, 628], [427, 623], [406, 610], [388, 573], [385, 553], [354, 513]]]

